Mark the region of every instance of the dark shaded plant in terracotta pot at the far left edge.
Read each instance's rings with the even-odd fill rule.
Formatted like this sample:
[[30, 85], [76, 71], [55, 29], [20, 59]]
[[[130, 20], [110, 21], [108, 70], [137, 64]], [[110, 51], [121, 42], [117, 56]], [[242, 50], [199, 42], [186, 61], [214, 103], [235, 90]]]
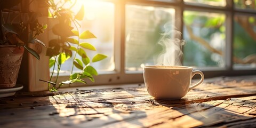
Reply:
[[36, 37], [47, 25], [38, 22], [36, 12], [30, 12], [29, 0], [0, 0], [0, 89], [15, 87], [23, 51], [39, 60], [39, 54], [28, 43], [40, 43]]

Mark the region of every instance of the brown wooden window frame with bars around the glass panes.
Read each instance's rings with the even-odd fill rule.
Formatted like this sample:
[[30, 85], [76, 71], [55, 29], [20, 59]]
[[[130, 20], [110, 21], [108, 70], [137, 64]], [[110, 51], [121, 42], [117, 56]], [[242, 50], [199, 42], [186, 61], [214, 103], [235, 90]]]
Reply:
[[[226, 60], [224, 68], [194, 68], [194, 70], [202, 70], [205, 78], [217, 77], [217, 76], [239, 76], [239, 75], [255, 75], [256, 69], [234, 69], [233, 68], [233, 37], [234, 33], [229, 31], [234, 30], [234, 15], [235, 14], [249, 14], [256, 15], [256, 10], [242, 10], [235, 9], [234, 2], [227, 0], [227, 5], [223, 7], [197, 5], [191, 3], [185, 3], [182, 0], [177, 2], [162, 2], [162, 1], [146, 1], [146, 0], [108, 0], [107, 2], [113, 2], [115, 4], [115, 28], [114, 28], [114, 62], [115, 70], [107, 73], [94, 76], [95, 82], [90, 81], [87, 85], [81, 83], [74, 83], [71, 85], [65, 85], [63, 87], [75, 87], [75, 86], [93, 86], [93, 85], [115, 85], [115, 84], [141, 84], [143, 83], [143, 75], [141, 71], [134, 73], [127, 73], [125, 71], [125, 5], [150, 5], [161, 7], [173, 7], [175, 9], [175, 18], [180, 18], [181, 22], [175, 22], [175, 25], [181, 33], [183, 33], [183, 11], [209, 11], [209, 12], [221, 12], [226, 15], [226, 48], [224, 59]], [[49, 18], [42, 17], [40, 22], [50, 22]], [[43, 21], [42, 21], [43, 20]], [[39, 37], [43, 42], [47, 44], [49, 40], [49, 32]], [[33, 46], [33, 45], [32, 45]], [[47, 83], [38, 81], [38, 79], [49, 79], [49, 65], [45, 66], [45, 63], [49, 63], [49, 57], [45, 56], [46, 49], [43, 48], [43, 52], [40, 53], [41, 60], [36, 61], [29, 55], [29, 91], [42, 91], [47, 90]], [[43, 63], [42, 63], [43, 62]], [[199, 76], [195, 76], [199, 78]], [[66, 81], [69, 76], [60, 76], [59, 81]], [[53, 78], [54, 79], [54, 78]]]

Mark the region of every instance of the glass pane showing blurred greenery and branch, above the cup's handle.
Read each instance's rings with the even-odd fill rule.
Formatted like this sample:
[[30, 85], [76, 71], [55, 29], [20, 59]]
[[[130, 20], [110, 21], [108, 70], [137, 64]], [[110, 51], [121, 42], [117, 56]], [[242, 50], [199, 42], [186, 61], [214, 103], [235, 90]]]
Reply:
[[183, 65], [224, 67], [225, 14], [185, 11], [183, 15]]

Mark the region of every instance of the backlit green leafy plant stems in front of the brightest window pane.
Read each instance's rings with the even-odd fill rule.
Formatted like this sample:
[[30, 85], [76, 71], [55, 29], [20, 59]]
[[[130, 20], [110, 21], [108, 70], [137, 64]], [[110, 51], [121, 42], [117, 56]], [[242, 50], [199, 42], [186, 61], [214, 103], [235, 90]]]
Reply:
[[[79, 21], [84, 17], [84, 6], [82, 5], [78, 12], [73, 12], [71, 9], [76, 4], [76, 1], [47, 1], [49, 6], [49, 16], [56, 22], [53, 25], [52, 33], [57, 38], [49, 41], [49, 47], [47, 48], [46, 55], [50, 57], [50, 67], [53, 70], [57, 70], [55, 80], [52, 79], [53, 72], [50, 80], [41, 81], [47, 82], [48, 90], [50, 92], [58, 91], [59, 87], [65, 84], [72, 84], [75, 82], [81, 82], [86, 84], [84, 78], [89, 78], [94, 82], [94, 75], [98, 75], [96, 69], [90, 66], [90, 63], [97, 62], [105, 59], [107, 56], [104, 54], [95, 54], [91, 59], [86, 50], [96, 51], [96, 48], [88, 42], [82, 42], [83, 39], [97, 38], [89, 30], [79, 30]], [[61, 65], [68, 59], [72, 59], [73, 65], [70, 66], [70, 78], [64, 82], [58, 82], [58, 77], [61, 69]], [[79, 69], [79, 73], [75, 73], [74, 67]]]

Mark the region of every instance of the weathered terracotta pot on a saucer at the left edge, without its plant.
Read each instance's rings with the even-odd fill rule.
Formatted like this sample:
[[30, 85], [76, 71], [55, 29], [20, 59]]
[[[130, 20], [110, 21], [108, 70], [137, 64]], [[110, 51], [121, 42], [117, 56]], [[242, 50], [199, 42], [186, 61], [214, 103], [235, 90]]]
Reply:
[[0, 45], [0, 89], [15, 87], [24, 47]]

